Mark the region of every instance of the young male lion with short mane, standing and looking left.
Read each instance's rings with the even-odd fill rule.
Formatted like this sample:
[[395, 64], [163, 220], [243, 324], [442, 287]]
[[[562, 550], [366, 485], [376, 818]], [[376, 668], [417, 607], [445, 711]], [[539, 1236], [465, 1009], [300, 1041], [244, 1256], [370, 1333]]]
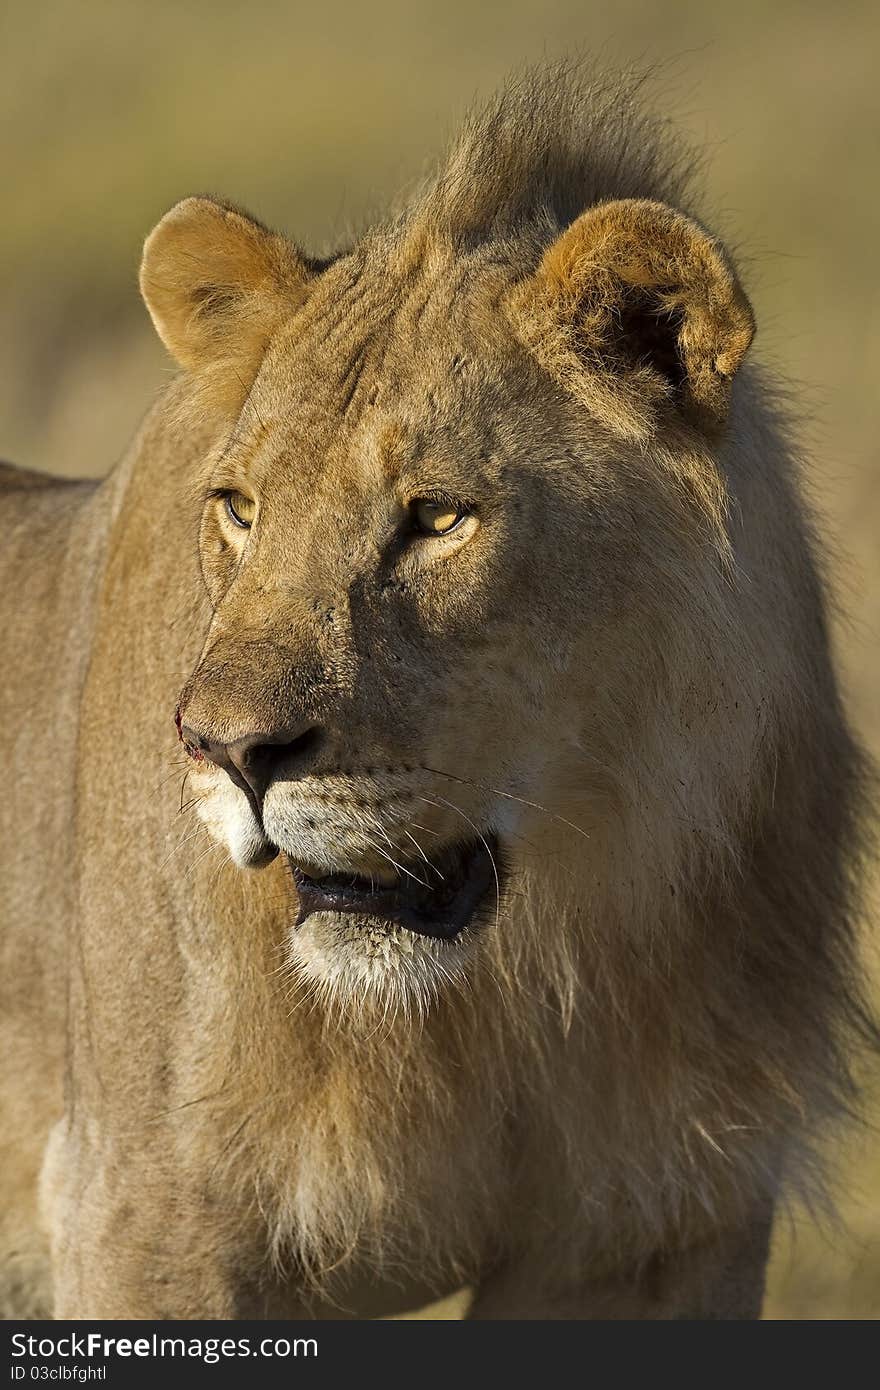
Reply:
[[185, 199], [181, 368], [8, 468], [3, 1295], [756, 1318], [872, 1022], [795, 435], [638, 81], [512, 81], [310, 257]]

